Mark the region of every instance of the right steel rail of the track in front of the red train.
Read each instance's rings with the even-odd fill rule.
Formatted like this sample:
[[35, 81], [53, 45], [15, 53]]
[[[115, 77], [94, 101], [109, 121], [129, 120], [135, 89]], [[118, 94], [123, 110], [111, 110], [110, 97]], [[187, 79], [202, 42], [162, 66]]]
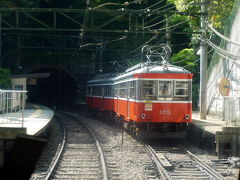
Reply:
[[224, 177], [219, 174], [215, 169], [213, 169], [212, 167], [208, 166], [207, 164], [205, 164], [204, 162], [202, 162], [200, 159], [198, 159], [193, 153], [191, 153], [189, 150], [187, 150], [186, 148], [182, 147], [179, 145], [180, 148], [182, 148], [185, 152], [188, 153], [188, 155], [197, 162], [197, 164], [203, 168], [209, 175], [212, 176], [212, 178], [214, 179], [224, 179]]

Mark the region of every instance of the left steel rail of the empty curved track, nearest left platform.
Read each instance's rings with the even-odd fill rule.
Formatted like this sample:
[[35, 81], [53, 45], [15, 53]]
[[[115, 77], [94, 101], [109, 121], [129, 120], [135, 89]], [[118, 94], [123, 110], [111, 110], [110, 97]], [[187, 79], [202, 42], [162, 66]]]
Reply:
[[61, 145], [61, 148], [59, 149], [58, 151], [58, 155], [53, 163], [53, 165], [51, 166], [50, 170], [48, 171], [47, 173], [47, 176], [45, 177], [45, 180], [49, 180], [51, 175], [53, 174], [53, 171], [55, 170], [56, 166], [57, 166], [57, 163], [63, 153], [63, 150], [64, 150], [64, 147], [65, 147], [65, 144], [66, 144], [66, 137], [67, 137], [67, 133], [66, 133], [66, 129], [64, 128], [63, 124], [61, 123], [61, 126], [63, 128], [63, 141], [62, 141], [62, 145]]

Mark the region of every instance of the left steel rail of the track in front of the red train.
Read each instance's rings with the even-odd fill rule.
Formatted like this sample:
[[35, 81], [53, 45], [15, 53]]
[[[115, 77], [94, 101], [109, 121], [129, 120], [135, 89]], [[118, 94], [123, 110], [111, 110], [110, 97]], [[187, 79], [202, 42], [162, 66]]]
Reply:
[[158, 171], [161, 175], [162, 179], [171, 179], [171, 177], [169, 176], [169, 174], [166, 172], [166, 170], [163, 168], [161, 162], [159, 161], [154, 149], [150, 146], [150, 145], [145, 145], [145, 147], [147, 148], [148, 152], [151, 154], [152, 160], [155, 162], [155, 164], [157, 165]]

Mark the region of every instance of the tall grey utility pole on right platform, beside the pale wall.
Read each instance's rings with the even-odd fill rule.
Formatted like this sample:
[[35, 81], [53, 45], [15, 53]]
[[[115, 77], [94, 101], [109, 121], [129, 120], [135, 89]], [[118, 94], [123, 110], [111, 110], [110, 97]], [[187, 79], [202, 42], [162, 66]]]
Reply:
[[207, 118], [207, 43], [206, 43], [206, 19], [207, 0], [201, 0], [201, 55], [200, 55], [200, 119]]

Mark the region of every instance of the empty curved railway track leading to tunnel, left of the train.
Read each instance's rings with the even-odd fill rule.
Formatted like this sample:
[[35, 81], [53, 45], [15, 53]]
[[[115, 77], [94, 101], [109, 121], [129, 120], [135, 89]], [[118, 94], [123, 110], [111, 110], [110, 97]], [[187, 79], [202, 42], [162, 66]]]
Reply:
[[64, 138], [45, 179], [108, 179], [103, 152], [93, 131], [63, 116]]

